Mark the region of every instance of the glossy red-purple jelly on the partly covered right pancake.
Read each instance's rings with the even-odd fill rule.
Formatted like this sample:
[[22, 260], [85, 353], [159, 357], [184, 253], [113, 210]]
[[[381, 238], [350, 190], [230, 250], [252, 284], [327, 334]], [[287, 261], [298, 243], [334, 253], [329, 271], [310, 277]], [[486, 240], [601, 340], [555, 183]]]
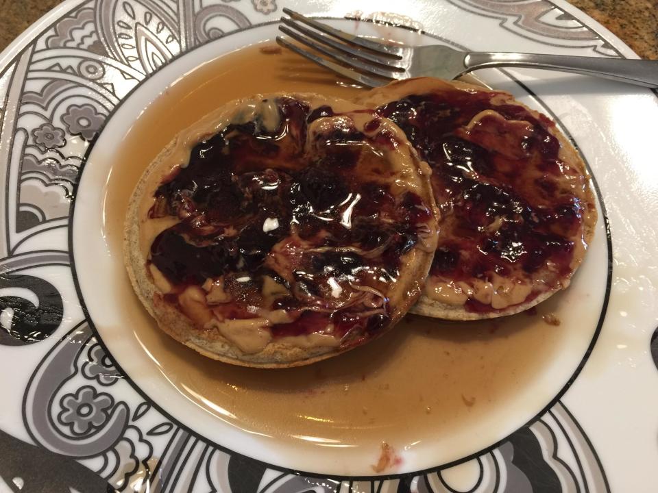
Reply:
[[[545, 290], [559, 288], [583, 237], [582, 171], [562, 159], [548, 118], [500, 104], [499, 97], [443, 90], [409, 95], [378, 112], [404, 130], [432, 167], [442, 214], [430, 271], [435, 279], [541, 277]], [[521, 302], [540, 292], [535, 285]], [[496, 309], [474, 296], [464, 304], [471, 312]]]

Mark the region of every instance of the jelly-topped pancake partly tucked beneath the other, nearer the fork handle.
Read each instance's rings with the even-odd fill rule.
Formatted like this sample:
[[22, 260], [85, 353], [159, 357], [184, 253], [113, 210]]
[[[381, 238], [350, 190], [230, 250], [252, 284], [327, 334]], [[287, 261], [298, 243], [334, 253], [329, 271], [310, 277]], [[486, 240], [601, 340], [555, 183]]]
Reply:
[[412, 312], [493, 318], [569, 286], [596, 207], [583, 160], [550, 118], [506, 92], [429, 77], [357, 102], [400, 126], [432, 168], [439, 242]]

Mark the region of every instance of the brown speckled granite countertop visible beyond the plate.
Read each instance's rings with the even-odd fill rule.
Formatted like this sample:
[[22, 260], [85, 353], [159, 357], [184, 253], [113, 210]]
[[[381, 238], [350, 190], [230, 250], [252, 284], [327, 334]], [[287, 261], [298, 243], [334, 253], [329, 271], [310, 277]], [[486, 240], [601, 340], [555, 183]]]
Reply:
[[[571, 0], [642, 58], [658, 60], [657, 0]], [[0, 0], [0, 50], [60, 0]]]

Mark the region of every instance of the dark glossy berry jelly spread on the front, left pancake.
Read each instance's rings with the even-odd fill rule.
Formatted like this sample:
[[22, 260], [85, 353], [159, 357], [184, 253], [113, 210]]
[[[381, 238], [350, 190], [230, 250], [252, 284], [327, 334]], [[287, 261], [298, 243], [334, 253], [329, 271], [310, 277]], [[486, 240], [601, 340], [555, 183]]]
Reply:
[[219, 320], [282, 310], [274, 337], [326, 332], [359, 344], [389, 324], [389, 287], [430, 207], [391, 189], [397, 172], [382, 153], [400, 142], [374, 112], [358, 110], [366, 135], [329, 105], [263, 103], [278, 125], [256, 116], [226, 126], [157, 188], [149, 216], [179, 219], [150, 249], [175, 286], [164, 299], [202, 286]]

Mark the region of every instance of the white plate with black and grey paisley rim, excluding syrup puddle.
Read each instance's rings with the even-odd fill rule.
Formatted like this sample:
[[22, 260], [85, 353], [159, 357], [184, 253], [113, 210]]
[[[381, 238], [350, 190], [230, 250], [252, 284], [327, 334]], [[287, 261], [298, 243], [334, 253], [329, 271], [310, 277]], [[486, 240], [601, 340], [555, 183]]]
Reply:
[[[121, 122], [186, 64], [271, 37], [281, 3], [70, 0], [0, 55], [0, 491], [655, 490], [658, 100], [648, 90], [537, 71], [482, 74], [559, 121], [590, 166], [601, 218], [563, 302], [561, 316], [580, 334], [573, 350], [506, 409], [509, 433], [485, 433], [457, 457], [429, 446], [406, 469], [372, 476], [356, 466], [345, 476], [319, 453], [246, 446], [185, 418], [188, 409], [103, 339], [97, 300], [84, 288], [103, 267], [77, 253], [75, 230], [102, 176], [95, 153], [112, 149]], [[401, 24], [422, 29], [422, 42], [481, 51], [633, 56], [562, 2], [286, 5]]]

